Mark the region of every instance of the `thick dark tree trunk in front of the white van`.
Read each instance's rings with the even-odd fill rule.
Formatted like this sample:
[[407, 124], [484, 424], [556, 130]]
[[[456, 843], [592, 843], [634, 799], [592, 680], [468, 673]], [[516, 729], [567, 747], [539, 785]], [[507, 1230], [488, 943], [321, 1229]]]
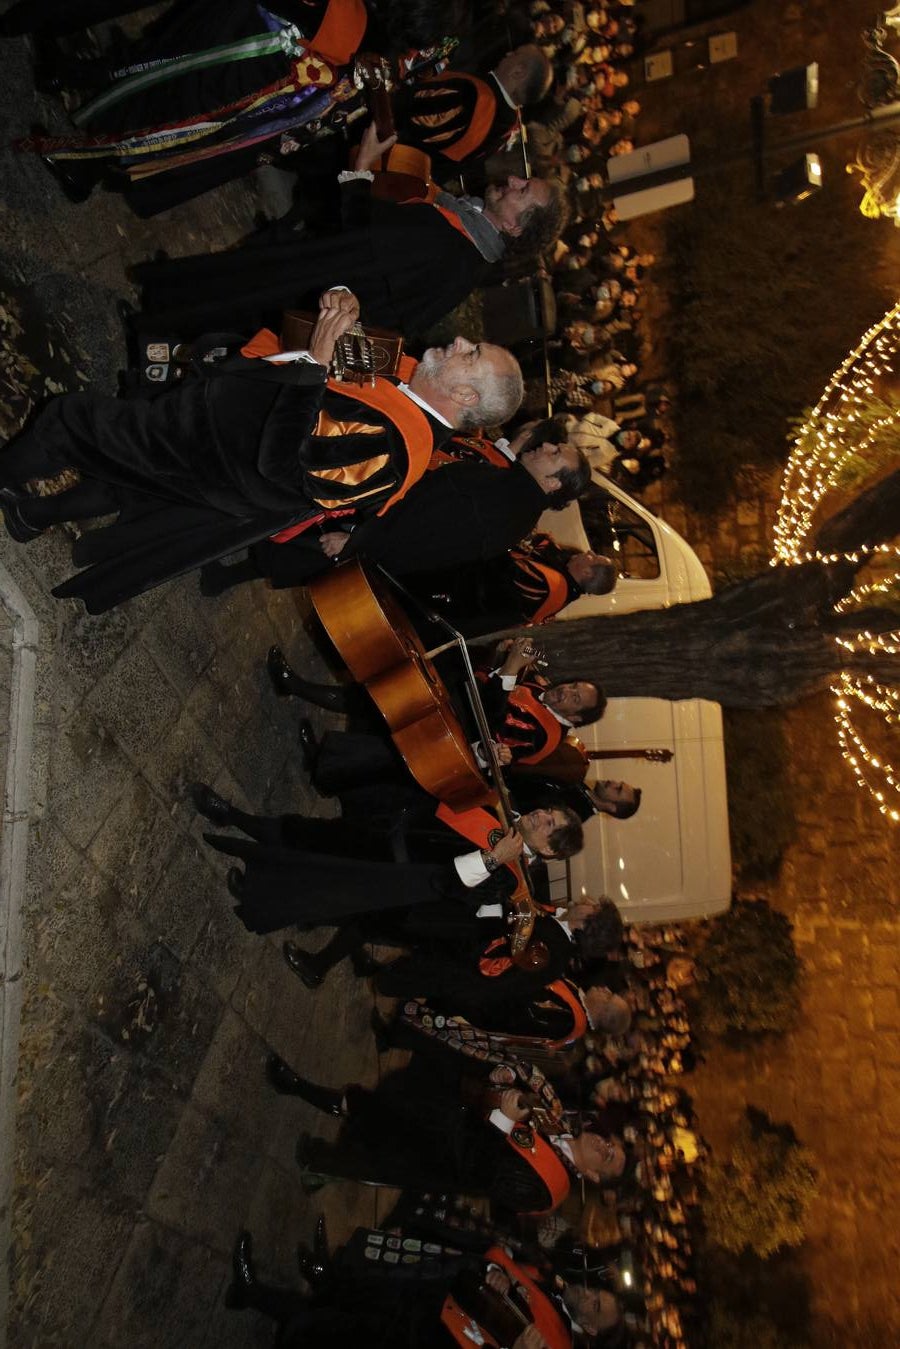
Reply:
[[[899, 532], [900, 469], [826, 521], [814, 548], [853, 552]], [[548, 623], [540, 631], [546, 672], [595, 680], [610, 697], [707, 697], [723, 707], [796, 703], [842, 669], [896, 684], [897, 656], [851, 653], [835, 642], [862, 629], [900, 630], [900, 615], [887, 608], [834, 612], [861, 565], [842, 558], [775, 567], [694, 604]]]

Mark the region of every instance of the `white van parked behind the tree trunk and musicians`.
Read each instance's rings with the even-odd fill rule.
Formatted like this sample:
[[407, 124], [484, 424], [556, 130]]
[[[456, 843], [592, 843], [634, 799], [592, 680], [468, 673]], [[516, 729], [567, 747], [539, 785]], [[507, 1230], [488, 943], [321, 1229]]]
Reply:
[[[561, 619], [663, 608], [711, 594], [681, 536], [596, 469], [587, 494], [563, 511], [548, 511], [538, 529], [560, 544], [607, 553], [619, 567], [611, 595], [583, 595]], [[602, 669], [596, 679], [603, 683]], [[609, 894], [630, 923], [676, 923], [726, 909], [731, 851], [719, 704], [614, 697], [599, 722], [576, 734], [588, 750], [658, 749], [672, 758], [591, 765], [588, 781], [621, 778], [640, 786], [641, 805], [629, 820], [588, 820], [584, 851], [551, 863], [553, 893]]]

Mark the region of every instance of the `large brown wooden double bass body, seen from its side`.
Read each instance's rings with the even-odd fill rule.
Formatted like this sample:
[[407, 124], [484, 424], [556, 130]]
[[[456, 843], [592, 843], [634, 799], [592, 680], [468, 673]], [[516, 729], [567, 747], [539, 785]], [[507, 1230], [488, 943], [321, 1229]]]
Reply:
[[358, 684], [385, 718], [420, 786], [455, 811], [497, 797], [479, 769], [444, 684], [409, 618], [359, 563], [309, 587], [313, 607]]

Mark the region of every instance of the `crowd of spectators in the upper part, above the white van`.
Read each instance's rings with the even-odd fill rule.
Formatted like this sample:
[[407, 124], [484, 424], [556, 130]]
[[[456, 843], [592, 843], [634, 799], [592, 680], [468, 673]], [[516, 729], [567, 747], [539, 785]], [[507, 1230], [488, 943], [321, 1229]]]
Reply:
[[[656, 258], [629, 241], [604, 198], [609, 161], [638, 143], [640, 7], [533, 0], [513, 5], [509, 20], [517, 40], [530, 35], [553, 62], [552, 92], [528, 109], [525, 131], [533, 171], [559, 178], [571, 209], [546, 259], [557, 313], [549, 398], [592, 464], [640, 492], [668, 467], [671, 399], [641, 378]], [[528, 406], [542, 401], [536, 372]]]

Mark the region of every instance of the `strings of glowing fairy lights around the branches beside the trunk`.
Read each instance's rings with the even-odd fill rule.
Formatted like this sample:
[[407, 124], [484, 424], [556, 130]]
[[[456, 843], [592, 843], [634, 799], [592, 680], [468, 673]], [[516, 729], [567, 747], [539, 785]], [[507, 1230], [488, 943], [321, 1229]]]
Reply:
[[[877, 383], [895, 372], [900, 345], [900, 302], [889, 309], [847, 353], [828, 380], [819, 402], [797, 429], [781, 479], [781, 500], [775, 525], [772, 567], [801, 563], [838, 563], [888, 567], [887, 575], [855, 585], [834, 606], [835, 614], [850, 615], [900, 590], [900, 548], [892, 544], [858, 548], [851, 553], [822, 553], [810, 548], [819, 507], [838, 488], [847, 472], [860, 465], [876, 469], [884, 456], [884, 440], [897, 434], [900, 413], [880, 399]], [[884, 411], [881, 411], [884, 409]], [[893, 730], [900, 723], [900, 684], [885, 684], [874, 673], [854, 668], [861, 658], [884, 661], [900, 654], [900, 631], [835, 635], [846, 654], [845, 665], [831, 685], [834, 720], [841, 754], [857, 785], [866, 791], [880, 813], [900, 823], [900, 772], [888, 755], [870, 747], [854, 722]], [[882, 666], [878, 666], [880, 672]], [[881, 719], [878, 722], [878, 718]]]

